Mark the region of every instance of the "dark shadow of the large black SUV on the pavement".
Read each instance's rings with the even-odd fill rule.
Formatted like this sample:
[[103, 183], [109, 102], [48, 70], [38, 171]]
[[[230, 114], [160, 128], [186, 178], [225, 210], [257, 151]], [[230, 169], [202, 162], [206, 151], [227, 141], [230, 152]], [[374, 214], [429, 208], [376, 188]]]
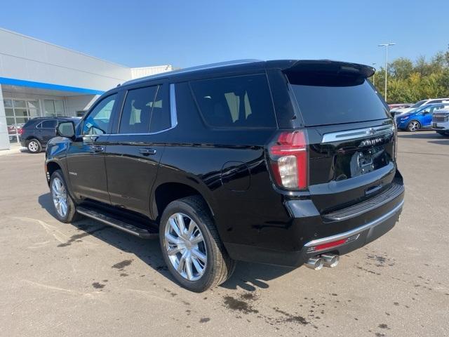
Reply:
[[[55, 217], [53, 201], [50, 193], [40, 195], [38, 201], [43, 209], [45, 209], [51, 216]], [[149, 265], [149, 267], [152, 267], [161, 275], [167, 279], [170, 279], [171, 282], [176, 283], [163, 261], [161, 250], [159, 248], [159, 240], [140, 239], [89, 218], [83, 218], [83, 220], [67, 225], [74, 226], [77, 230], [79, 230], [79, 233], [69, 237], [67, 242], [58, 244], [58, 247], [62, 248], [65, 246], [70, 246], [76, 242], [80, 242], [83, 237], [92, 236], [96, 239], [102, 240], [106, 244], [120, 249], [121, 251], [133, 253], [137, 258]], [[126, 261], [114, 261], [114, 263], [112, 263], [112, 267], [124, 262]], [[221, 286], [226, 289], [241, 288], [246, 291], [266, 289], [269, 287], [267, 281], [280, 277], [291, 270], [292, 269], [288, 267], [240, 262], [236, 265], [234, 275], [232, 275], [232, 277]]]

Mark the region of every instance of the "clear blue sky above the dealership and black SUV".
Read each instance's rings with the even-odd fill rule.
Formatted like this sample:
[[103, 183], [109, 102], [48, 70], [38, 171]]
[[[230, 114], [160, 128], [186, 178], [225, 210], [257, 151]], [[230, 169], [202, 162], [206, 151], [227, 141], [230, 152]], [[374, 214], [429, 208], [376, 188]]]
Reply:
[[0, 27], [130, 67], [330, 58], [383, 65], [449, 44], [449, 1], [5, 1]]

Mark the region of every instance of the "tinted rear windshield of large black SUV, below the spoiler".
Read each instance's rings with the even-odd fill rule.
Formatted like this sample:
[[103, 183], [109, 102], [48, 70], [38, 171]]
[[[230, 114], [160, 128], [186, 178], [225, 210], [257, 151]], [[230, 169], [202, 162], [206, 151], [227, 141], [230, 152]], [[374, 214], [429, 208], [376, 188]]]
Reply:
[[387, 107], [361, 77], [288, 75], [306, 126], [372, 121], [389, 117]]

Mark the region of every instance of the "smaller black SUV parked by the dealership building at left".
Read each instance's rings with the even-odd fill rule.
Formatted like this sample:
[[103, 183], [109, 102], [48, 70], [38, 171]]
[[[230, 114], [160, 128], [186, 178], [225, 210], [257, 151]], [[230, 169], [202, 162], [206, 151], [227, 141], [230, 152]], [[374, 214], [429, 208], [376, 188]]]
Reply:
[[67, 117], [36, 117], [29, 119], [20, 131], [20, 144], [27, 147], [29, 152], [38, 153], [46, 147], [48, 140], [56, 136], [56, 128], [62, 121], [74, 121], [78, 124], [80, 119]]

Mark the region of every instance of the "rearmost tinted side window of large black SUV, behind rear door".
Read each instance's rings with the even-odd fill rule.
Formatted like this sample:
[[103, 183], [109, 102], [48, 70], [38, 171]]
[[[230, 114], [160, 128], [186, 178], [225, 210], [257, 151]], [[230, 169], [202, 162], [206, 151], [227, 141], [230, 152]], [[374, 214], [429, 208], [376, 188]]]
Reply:
[[218, 128], [275, 128], [264, 74], [191, 82], [203, 119]]

